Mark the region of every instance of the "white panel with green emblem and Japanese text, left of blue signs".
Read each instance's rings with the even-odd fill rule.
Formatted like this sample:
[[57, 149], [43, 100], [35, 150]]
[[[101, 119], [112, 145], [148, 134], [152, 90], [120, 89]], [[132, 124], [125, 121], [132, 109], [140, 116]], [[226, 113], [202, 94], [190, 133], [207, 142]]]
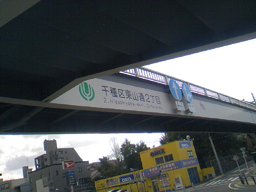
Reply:
[[169, 113], [169, 100], [170, 94], [96, 78], [82, 82], [52, 103]]

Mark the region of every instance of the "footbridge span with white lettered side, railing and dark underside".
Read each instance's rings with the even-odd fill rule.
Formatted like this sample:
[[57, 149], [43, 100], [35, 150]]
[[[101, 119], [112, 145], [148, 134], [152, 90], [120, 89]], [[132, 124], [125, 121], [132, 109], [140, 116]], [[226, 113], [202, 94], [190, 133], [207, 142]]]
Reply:
[[[178, 87], [173, 87], [174, 82]], [[177, 100], [175, 96], [185, 84], [187, 87]], [[256, 128], [253, 104], [146, 68], [90, 80], [80, 78], [44, 102], [8, 98], [5, 102], [22, 105], [19, 109], [24, 108], [24, 115], [14, 122], [2, 123], [3, 134], [253, 133]]]

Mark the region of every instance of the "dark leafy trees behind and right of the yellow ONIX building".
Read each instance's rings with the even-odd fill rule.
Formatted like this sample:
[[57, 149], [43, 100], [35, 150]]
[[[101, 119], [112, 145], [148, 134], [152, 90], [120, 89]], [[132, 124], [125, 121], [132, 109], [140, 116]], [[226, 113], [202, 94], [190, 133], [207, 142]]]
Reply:
[[[190, 135], [190, 138], [194, 138], [194, 148], [202, 168], [206, 166], [207, 161], [215, 159], [208, 133], [168, 132], [162, 135], [160, 144], [185, 139], [186, 135]], [[240, 148], [243, 146], [243, 141], [236, 135], [226, 133], [211, 133], [210, 135], [219, 158], [241, 152]]]

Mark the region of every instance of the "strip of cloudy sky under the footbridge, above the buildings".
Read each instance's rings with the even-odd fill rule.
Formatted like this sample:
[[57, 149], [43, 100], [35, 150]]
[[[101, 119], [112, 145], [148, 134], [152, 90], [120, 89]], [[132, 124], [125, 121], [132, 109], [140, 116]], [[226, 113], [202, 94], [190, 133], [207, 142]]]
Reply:
[[[74, 148], [84, 161], [97, 162], [111, 155], [109, 140], [122, 144], [125, 138], [132, 143], [143, 140], [147, 146], [159, 145], [159, 133], [152, 134], [60, 134], [0, 136], [0, 173], [4, 180], [22, 178], [22, 166], [34, 167], [34, 158], [44, 154], [44, 140], [57, 141], [58, 148]], [[27, 161], [28, 160], [28, 161]]]

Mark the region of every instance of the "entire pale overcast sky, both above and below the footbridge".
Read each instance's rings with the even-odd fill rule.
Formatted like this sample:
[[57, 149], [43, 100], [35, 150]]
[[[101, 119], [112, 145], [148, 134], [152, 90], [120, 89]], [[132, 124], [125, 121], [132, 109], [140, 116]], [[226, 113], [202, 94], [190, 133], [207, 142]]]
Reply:
[[[254, 39], [147, 67], [240, 100], [252, 101], [251, 92], [256, 94], [255, 58]], [[58, 148], [75, 148], [84, 161], [91, 163], [111, 154], [109, 140], [112, 137], [116, 137], [120, 145], [128, 138], [134, 144], [142, 140], [152, 147], [159, 146], [161, 134], [1, 135], [0, 178], [22, 178], [22, 166], [28, 165], [35, 170], [34, 158], [45, 153], [45, 139], [56, 139]]]

